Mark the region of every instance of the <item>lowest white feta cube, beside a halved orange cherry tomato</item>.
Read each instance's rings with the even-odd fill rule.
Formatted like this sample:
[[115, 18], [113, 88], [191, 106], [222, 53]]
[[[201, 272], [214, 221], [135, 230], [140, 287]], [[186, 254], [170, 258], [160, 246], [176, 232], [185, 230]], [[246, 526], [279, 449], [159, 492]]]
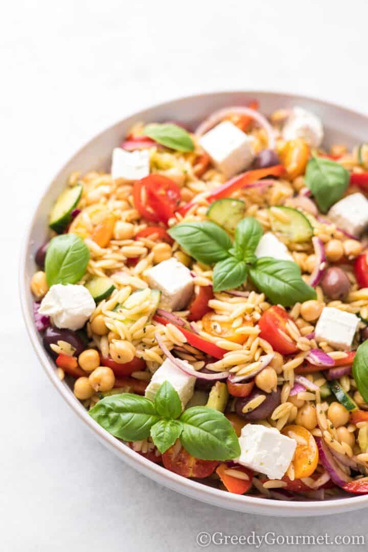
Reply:
[[259, 471], [270, 479], [281, 479], [296, 449], [296, 440], [282, 435], [278, 429], [248, 423], [239, 437], [242, 450], [237, 459], [246, 468]]

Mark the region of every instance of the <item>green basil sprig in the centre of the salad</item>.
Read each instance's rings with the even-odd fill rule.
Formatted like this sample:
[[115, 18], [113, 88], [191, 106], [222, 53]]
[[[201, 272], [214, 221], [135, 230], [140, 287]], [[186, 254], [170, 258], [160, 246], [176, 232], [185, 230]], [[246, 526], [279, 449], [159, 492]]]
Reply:
[[263, 230], [253, 217], [238, 223], [234, 243], [225, 230], [209, 221], [182, 222], [168, 232], [197, 261], [215, 265], [214, 291], [237, 288], [249, 275], [275, 304], [286, 307], [316, 299], [316, 291], [304, 282], [296, 263], [271, 257], [257, 259], [254, 252]]

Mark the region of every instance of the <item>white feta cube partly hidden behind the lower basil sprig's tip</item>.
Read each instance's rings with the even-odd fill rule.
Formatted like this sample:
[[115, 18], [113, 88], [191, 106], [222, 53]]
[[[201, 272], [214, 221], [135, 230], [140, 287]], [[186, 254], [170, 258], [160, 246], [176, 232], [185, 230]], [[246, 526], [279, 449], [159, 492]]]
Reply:
[[186, 403], [193, 397], [195, 380], [194, 376], [186, 375], [167, 358], [153, 374], [146, 388], [145, 396], [153, 401], [154, 396], [164, 381], [169, 381], [175, 391], [177, 391], [184, 410]]

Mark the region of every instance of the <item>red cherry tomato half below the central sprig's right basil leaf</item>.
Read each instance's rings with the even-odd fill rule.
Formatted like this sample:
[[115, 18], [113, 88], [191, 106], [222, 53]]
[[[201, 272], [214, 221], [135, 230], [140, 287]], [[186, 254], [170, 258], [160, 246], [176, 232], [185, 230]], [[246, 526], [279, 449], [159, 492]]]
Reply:
[[286, 310], [274, 305], [265, 311], [258, 321], [261, 330], [259, 337], [268, 341], [274, 351], [281, 354], [293, 354], [299, 350], [294, 342], [287, 341], [279, 332], [279, 330], [285, 332], [288, 320], [291, 320], [291, 318]]

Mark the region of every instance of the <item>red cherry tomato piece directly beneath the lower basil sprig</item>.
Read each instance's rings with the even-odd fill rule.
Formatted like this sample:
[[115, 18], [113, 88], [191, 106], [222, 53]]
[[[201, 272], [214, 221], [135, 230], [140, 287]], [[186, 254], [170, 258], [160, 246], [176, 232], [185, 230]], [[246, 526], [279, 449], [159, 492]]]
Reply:
[[189, 452], [175, 443], [167, 449], [162, 455], [162, 463], [167, 470], [174, 471], [175, 474], [183, 477], [208, 477], [214, 473], [217, 460], [200, 460], [194, 458]]

